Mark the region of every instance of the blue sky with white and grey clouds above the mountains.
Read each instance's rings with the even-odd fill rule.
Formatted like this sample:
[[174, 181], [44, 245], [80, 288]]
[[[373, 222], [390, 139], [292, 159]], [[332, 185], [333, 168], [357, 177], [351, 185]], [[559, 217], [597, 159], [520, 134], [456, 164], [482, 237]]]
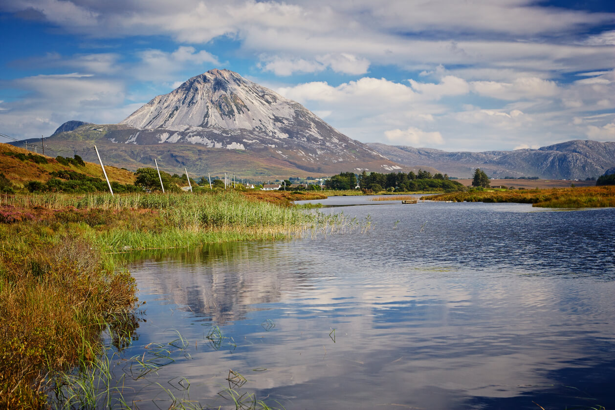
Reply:
[[226, 68], [363, 143], [615, 141], [613, 0], [0, 0], [0, 24], [18, 139], [115, 124]]

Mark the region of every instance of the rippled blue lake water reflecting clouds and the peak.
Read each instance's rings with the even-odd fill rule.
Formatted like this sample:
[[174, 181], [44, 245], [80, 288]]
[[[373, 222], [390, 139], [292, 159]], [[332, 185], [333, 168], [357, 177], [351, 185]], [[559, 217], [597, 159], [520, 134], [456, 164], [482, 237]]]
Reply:
[[615, 209], [320, 202], [373, 229], [132, 256], [145, 321], [121, 355], [164, 366], [129, 400], [615, 406]]

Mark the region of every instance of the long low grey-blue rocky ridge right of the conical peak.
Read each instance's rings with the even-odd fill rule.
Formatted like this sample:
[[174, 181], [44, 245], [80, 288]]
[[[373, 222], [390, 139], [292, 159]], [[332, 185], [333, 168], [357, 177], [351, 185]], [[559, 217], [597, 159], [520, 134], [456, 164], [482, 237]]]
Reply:
[[435, 167], [459, 178], [469, 178], [476, 168], [481, 168], [491, 178], [585, 179], [603, 175], [615, 165], [615, 142], [574, 140], [539, 149], [485, 152], [446, 152], [386, 144], [368, 146], [399, 164]]

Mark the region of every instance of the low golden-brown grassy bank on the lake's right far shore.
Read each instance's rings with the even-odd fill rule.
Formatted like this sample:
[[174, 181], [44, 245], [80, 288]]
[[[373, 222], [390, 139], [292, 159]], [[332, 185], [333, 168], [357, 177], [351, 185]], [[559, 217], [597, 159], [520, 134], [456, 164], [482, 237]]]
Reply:
[[601, 208], [615, 207], [615, 186], [451, 192], [421, 199], [531, 203], [542, 208]]

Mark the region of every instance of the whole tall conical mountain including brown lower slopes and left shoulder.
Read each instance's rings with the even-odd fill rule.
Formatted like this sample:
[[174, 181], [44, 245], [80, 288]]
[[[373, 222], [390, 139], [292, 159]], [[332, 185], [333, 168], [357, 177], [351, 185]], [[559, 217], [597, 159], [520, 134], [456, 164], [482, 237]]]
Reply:
[[301, 104], [226, 69], [192, 77], [119, 124], [74, 125], [71, 121], [58, 128], [46, 139], [46, 149], [95, 143], [127, 168], [151, 167], [155, 157], [162, 167], [173, 171], [186, 167], [194, 175], [418, 170], [395, 164]]

